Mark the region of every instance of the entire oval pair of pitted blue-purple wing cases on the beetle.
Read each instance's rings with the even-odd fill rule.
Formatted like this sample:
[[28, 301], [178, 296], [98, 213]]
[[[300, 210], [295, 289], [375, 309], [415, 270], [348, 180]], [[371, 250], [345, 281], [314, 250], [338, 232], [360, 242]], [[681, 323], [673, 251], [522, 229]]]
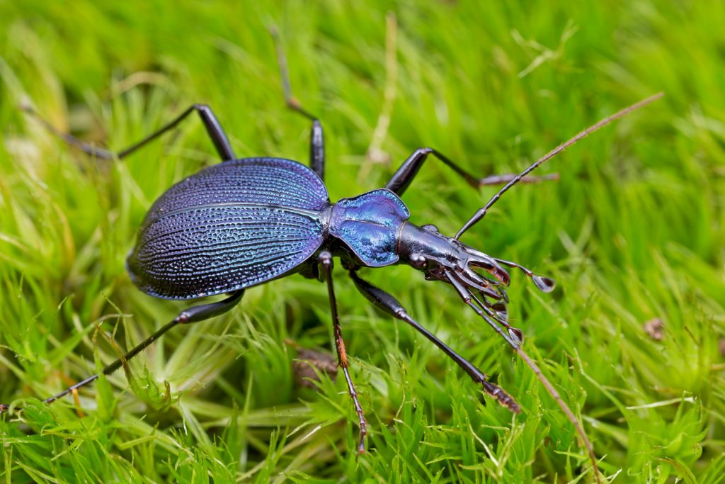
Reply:
[[323, 242], [327, 190], [291, 160], [214, 165], [154, 203], [128, 255], [141, 290], [168, 299], [232, 292], [293, 270]]

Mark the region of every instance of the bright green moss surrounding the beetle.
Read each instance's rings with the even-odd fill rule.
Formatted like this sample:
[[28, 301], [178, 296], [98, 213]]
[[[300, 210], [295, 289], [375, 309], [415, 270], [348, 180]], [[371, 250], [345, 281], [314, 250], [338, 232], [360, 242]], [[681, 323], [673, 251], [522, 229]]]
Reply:
[[[511, 318], [605, 475], [723, 480], [725, 4], [405, 2], [391, 7], [389, 70], [383, 1], [112, 3], [0, 1], [0, 401], [23, 409], [0, 417], [0, 480], [592, 481], [572, 425], [531, 371], [452, 288], [402, 266], [365, 277], [494, 375], [520, 416], [373, 311], [341, 268], [339, 310], [370, 422], [365, 456], [353, 451], [344, 380], [294, 383], [284, 340], [328, 351], [332, 342], [326, 289], [299, 276], [171, 332], [132, 361], [131, 385], [117, 372], [80, 392], [81, 409], [72, 398], [38, 403], [112, 361], [109, 340], [128, 348], [185, 307], [139, 292], [125, 255], [159, 194], [216, 160], [197, 120], [106, 163], [17, 104], [122, 149], [206, 102], [237, 155], [306, 160], [309, 126], [283, 106], [272, 23], [295, 94], [326, 128], [333, 200], [383, 186], [416, 147], [481, 176], [518, 171], [599, 118], [666, 93], [542, 169], [559, 182], [507, 193], [465, 242], [557, 280], [541, 295], [513, 273]], [[379, 138], [389, 161], [373, 163], [366, 152], [393, 73]], [[405, 201], [415, 223], [451, 234], [492, 193], [431, 161]], [[644, 329], [655, 318], [661, 341]]]

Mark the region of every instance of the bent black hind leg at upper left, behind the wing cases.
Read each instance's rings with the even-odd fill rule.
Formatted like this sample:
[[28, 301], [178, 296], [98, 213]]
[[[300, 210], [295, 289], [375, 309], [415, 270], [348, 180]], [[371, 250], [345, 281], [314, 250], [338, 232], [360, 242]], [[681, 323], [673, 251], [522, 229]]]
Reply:
[[119, 160], [123, 159], [124, 157], [135, 152], [137, 149], [144, 147], [149, 141], [153, 141], [170, 129], [175, 128], [178, 123], [181, 123], [181, 121], [184, 120], [184, 118], [186, 118], [192, 112], [198, 112], [199, 118], [202, 119], [202, 123], [204, 123], [204, 128], [207, 128], [207, 133], [212, 139], [212, 143], [214, 143], [214, 147], [217, 149], [217, 152], [219, 153], [222, 161], [236, 159], [236, 156], [234, 156], [234, 152], [231, 149], [231, 144], [229, 144], [229, 139], [224, 133], [224, 130], [219, 123], [219, 120], [214, 115], [212, 108], [210, 108], [206, 104], [192, 104], [186, 109], [186, 111], [182, 112], [181, 115], [178, 115], [177, 118], [168, 123], [166, 126], [163, 126], [158, 131], [154, 131], [154, 133], [149, 134], [149, 136], [141, 139], [141, 141], [138, 141], [136, 144], [133, 144], [126, 149], [122, 149], [120, 152], [117, 153], [110, 152], [108, 149], [95, 147], [92, 144], [80, 141], [80, 139], [72, 136], [72, 134], [67, 134], [59, 131], [57, 128], [51, 125], [51, 123], [41, 118], [41, 115], [38, 115], [38, 113], [30, 106], [23, 105], [21, 106], [21, 109], [27, 112], [29, 115], [33, 116], [33, 118], [36, 118], [36, 120], [38, 120], [43, 126], [45, 126], [48, 131], [58, 136], [67, 144], [70, 144], [72, 147], [80, 149], [80, 151], [88, 155], [103, 158], [104, 160], [113, 160], [115, 158], [118, 158]]

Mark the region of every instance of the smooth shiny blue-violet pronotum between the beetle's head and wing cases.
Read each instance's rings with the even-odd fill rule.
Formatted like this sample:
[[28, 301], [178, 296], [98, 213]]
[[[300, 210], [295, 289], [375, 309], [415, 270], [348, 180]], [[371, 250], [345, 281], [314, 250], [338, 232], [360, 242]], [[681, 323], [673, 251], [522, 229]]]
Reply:
[[398, 233], [408, 217], [410, 212], [396, 194], [373, 190], [334, 205], [330, 234], [345, 242], [366, 266], [388, 266], [398, 261]]

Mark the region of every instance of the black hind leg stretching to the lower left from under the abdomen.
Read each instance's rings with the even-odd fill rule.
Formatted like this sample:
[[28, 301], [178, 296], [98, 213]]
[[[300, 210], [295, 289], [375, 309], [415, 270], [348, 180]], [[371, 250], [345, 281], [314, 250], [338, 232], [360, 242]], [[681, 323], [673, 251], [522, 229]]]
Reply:
[[[216, 303], [196, 305], [192, 308], [181, 311], [178, 316], [176, 316], [172, 321], [159, 328], [157, 332], [155, 332], [153, 335], [147, 337], [145, 340], [141, 341], [141, 343], [138, 343], [138, 345], [136, 345], [133, 349], [128, 351], [128, 353], [125, 353], [124, 356], [118, 358], [112, 364], [106, 366], [103, 369], [103, 374], [112, 374], [121, 366], [123, 366], [126, 361], [138, 355], [138, 353], [141, 353], [141, 351], [145, 350], [149, 345], [154, 343], [154, 341], [158, 340], [159, 337], [162, 337], [162, 335], [164, 335], [169, 329], [176, 327], [179, 324], [196, 323], [198, 321], [203, 321], [204, 319], [210, 319], [214, 316], [219, 316], [220, 314], [226, 313], [239, 303], [242, 295], [244, 295], [244, 290], [239, 290], [237, 292], [234, 292], [228, 298], [217, 301]], [[91, 377], [88, 377], [86, 378], [86, 380], [72, 385], [72, 387], [63, 390], [61, 393], [46, 398], [44, 402], [53, 403], [59, 398], [64, 397], [65, 395], [68, 395], [75, 390], [78, 390], [78, 388], [85, 387], [86, 385], [95, 382], [96, 380], [98, 380], [99, 376], [99, 374], [91, 375]], [[0, 411], [2, 411], [4, 407], [7, 406], [0, 405]]]

